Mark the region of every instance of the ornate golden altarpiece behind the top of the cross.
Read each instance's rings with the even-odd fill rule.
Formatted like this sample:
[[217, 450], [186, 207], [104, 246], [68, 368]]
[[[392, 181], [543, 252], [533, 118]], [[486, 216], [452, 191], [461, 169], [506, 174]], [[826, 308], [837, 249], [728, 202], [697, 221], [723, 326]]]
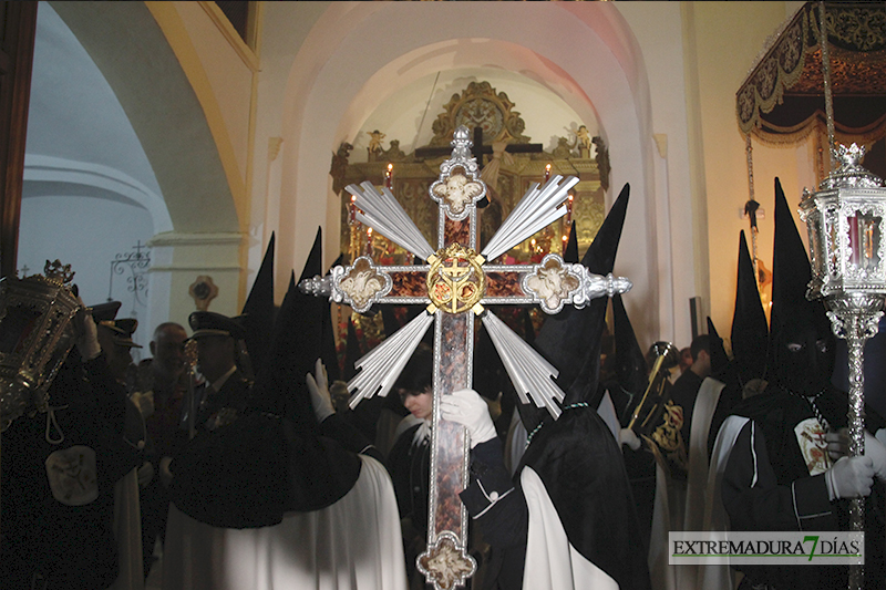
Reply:
[[[432, 125], [434, 136], [429, 147], [449, 146], [453, 131], [460, 125], [483, 130], [485, 146], [503, 142], [508, 145], [530, 143], [530, 137], [523, 134], [525, 123], [514, 111], [514, 103], [504, 92], [496, 92], [488, 82], [471, 82], [461, 94], [453, 94], [444, 105]], [[568, 123], [568, 122], [565, 122]], [[565, 127], [565, 125], [564, 125]], [[584, 127], [584, 126], [583, 126]], [[583, 127], [579, 127], [581, 130]], [[565, 127], [566, 128], [566, 127]], [[383, 137], [383, 134], [380, 134]], [[427, 199], [427, 187], [437, 178], [440, 164], [449, 154], [431, 158], [416, 157], [415, 152], [406, 154], [400, 149], [400, 141], [390, 141], [388, 149], [380, 142], [374, 148], [368, 148], [368, 162], [348, 163], [351, 147], [342, 144], [333, 156], [330, 174], [333, 177], [333, 189], [341, 199], [341, 251], [346, 256], [353, 251], [352, 225], [350, 219], [350, 196], [344, 187], [350, 184], [370, 183], [382, 186], [389, 164], [393, 165], [390, 175], [390, 187], [406, 214], [422, 230], [425, 239], [434, 244], [436, 240], [436, 209]], [[593, 146], [593, 147], [591, 147]], [[496, 182], [492, 186], [491, 203], [481, 209], [481, 238], [488, 239], [507, 218], [519, 198], [533, 183], [543, 184], [546, 166], [550, 164], [550, 175], [576, 176], [579, 183], [573, 189], [573, 214], [579, 251], [584, 251], [602, 224], [605, 217], [605, 190], [608, 188], [609, 163], [608, 151], [599, 137], [587, 137], [586, 132], [573, 137], [559, 137], [558, 146], [553, 152], [505, 153], [501, 156], [487, 155], [483, 158], [481, 169], [492, 159], [498, 161]], [[563, 253], [563, 236], [568, 235], [566, 221], [554, 224], [539, 231], [532, 239], [512, 249], [508, 256], [517, 261], [540, 259], [548, 251]], [[385, 239], [373, 237], [373, 259], [390, 262], [409, 262], [404, 250]], [[365, 242], [364, 238], [360, 238]], [[534, 244], [533, 244], [534, 240]], [[387, 253], [385, 253], [387, 250]], [[365, 252], [365, 250], [362, 250]], [[348, 260], [351, 256], [348, 256]]]

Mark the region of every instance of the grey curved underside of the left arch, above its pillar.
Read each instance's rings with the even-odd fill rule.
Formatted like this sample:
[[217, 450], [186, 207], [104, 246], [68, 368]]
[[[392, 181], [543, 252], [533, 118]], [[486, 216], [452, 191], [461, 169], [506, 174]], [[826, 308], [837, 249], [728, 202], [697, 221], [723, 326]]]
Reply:
[[146, 154], [175, 231], [239, 231], [206, 115], [145, 3], [51, 4], [113, 90]]

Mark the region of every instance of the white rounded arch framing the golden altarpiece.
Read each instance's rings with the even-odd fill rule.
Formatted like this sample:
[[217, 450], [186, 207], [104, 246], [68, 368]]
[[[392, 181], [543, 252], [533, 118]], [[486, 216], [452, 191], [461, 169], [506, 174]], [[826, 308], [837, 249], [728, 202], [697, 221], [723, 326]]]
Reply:
[[[635, 293], [626, 298], [635, 323], [655, 331], [656, 203], [642, 58], [615, 7], [564, 4], [330, 4], [296, 55], [287, 83], [281, 262], [300, 268], [312, 240], [306, 229], [324, 225], [327, 210], [338, 207], [329, 192], [330, 152], [387, 96], [443, 69], [505, 68], [544, 83], [579, 115], [599, 122], [610, 146], [610, 192], [630, 183], [633, 197], [625, 230], [630, 239], [621, 242], [616, 271], [635, 282]], [[330, 229], [327, 245], [334, 244]], [[326, 252], [328, 260], [333, 257]]]

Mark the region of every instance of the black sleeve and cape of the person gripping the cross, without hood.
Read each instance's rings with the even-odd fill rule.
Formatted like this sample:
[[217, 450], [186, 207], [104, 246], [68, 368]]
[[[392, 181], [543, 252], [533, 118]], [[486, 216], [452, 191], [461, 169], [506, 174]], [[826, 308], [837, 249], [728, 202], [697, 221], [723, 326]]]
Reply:
[[523, 455], [514, 483], [503, 477], [504, 465], [492, 448], [495, 444], [501, 445], [497, 441], [484, 443], [472, 452], [471, 485], [461, 497], [484, 539], [503, 552], [498, 588], [519, 589], [523, 584], [528, 535], [526, 500], [519, 487], [524, 467], [540, 477], [569, 544], [585, 559], [625, 590], [651, 587], [647, 548], [639, 542], [621, 451], [595, 410], [569, 408], [556, 422], [542, 426]]

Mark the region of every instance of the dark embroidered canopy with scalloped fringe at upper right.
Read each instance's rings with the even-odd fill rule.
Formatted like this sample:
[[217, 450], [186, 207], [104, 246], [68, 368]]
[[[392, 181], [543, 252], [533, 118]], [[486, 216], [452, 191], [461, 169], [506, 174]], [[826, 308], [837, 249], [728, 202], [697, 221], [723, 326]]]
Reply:
[[[830, 61], [823, 63], [822, 14]], [[806, 2], [775, 31], [735, 93], [741, 131], [794, 143], [825, 124], [825, 65], [837, 132], [865, 142], [886, 133], [886, 6]], [[827, 154], [825, 154], [827, 156]]]

